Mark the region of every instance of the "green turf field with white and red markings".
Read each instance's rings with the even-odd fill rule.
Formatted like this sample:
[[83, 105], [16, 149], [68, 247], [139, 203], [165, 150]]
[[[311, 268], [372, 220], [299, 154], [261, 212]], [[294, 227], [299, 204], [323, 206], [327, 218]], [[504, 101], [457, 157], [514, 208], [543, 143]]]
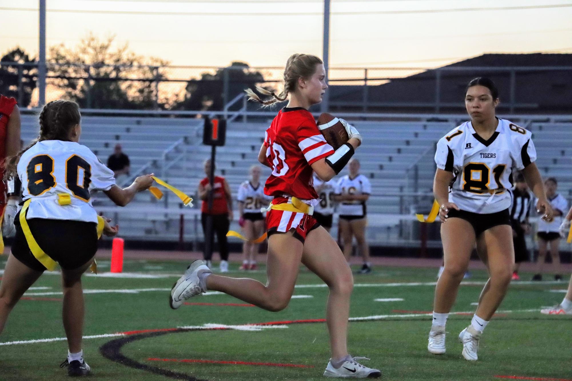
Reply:
[[[5, 258], [1, 259], [3, 268]], [[318, 380], [324, 379], [329, 358], [325, 323], [288, 323], [260, 331], [244, 331], [243, 324], [323, 319], [328, 295], [325, 287], [299, 287], [289, 307], [273, 313], [244, 304], [227, 295], [207, 295], [190, 299], [193, 303], [170, 310], [170, 287], [186, 263], [127, 260], [124, 271], [155, 278], [84, 277], [86, 321], [84, 335], [117, 334], [86, 338], [84, 355], [98, 380]], [[236, 270], [237, 265], [231, 270]], [[100, 263], [100, 271], [109, 262]], [[104, 274], [105, 275], [105, 274]], [[231, 276], [242, 276], [234, 271]], [[349, 348], [353, 356], [367, 356], [369, 366], [378, 367], [384, 380], [499, 380], [496, 375], [529, 379], [572, 380], [572, 319], [570, 316], [545, 316], [538, 310], [561, 301], [566, 282], [559, 284], [519, 284], [513, 282], [497, 316], [486, 328], [480, 344], [479, 360], [462, 358], [459, 332], [470, 323], [470, 315], [452, 315], [447, 324], [447, 354], [427, 352], [430, 317], [419, 314], [432, 309], [434, 286], [401, 283], [434, 282], [434, 268], [377, 268], [371, 275], [355, 275], [350, 316], [378, 316], [350, 324]], [[265, 279], [264, 272], [251, 276]], [[530, 279], [529, 274], [523, 278]], [[474, 311], [484, 272], [476, 271], [462, 286], [454, 311]], [[320, 284], [306, 270], [300, 272], [299, 286]], [[388, 283], [400, 283], [383, 286]], [[363, 286], [359, 286], [362, 284]], [[379, 286], [378, 286], [379, 284]], [[59, 277], [43, 275], [29, 294], [14, 308], [1, 343], [19, 340], [62, 338]], [[148, 291], [133, 291], [146, 289]], [[380, 298], [400, 298], [377, 302]], [[527, 311], [535, 310], [535, 311]], [[512, 311], [512, 312], [503, 312]], [[162, 330], [204, 324], [231, 325], [226, 330]], [[239, 327], [236, 327], [239, 326]], [[211, 326], [212, 327], [212, 326]], [[252, 327], [251, 327], [252, 329]], [[0, 346], [1, 380], [66, 379], [59, 363], [66, 358], [64, 340]], [[105, 355], [104, 355], [105, 354]], [[111, 360], [110, 358], [114, 359]], [[154, 359], [154, 360], [151, 360]], [[172, 361], [163, 361], [172, 360]], [[251, 362], [293, 364], [300, 367], [181, 362]], [[303, 366], [303, 367], [302, 367]]]

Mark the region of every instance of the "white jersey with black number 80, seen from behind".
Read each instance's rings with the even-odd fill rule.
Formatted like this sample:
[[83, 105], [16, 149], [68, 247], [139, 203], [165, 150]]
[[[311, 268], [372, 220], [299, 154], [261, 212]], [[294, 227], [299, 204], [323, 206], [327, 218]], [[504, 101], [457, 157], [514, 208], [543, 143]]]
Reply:
[[[22, 154], [18, 162], [22, 198], [31, 198], [26, 219], [47, 218], [96, 222], [91, 190], [115, 185], [113, 171], [86, 146], [75, 142], [42, 141]], [[72, 203], [60, 205], [58, 194], [72, 195]]]

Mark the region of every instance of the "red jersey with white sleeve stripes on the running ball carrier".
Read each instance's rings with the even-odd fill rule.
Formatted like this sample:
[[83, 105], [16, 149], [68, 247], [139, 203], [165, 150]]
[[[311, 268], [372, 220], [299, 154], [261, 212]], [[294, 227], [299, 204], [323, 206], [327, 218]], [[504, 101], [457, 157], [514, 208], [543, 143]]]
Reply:
[[272, 175], [264, 193], [299, 199], [318, 198], [312, 185], [312, 163], [334, 153], [311, 113], [303, 107], [284, 107], [266, 130], [264, 146]]

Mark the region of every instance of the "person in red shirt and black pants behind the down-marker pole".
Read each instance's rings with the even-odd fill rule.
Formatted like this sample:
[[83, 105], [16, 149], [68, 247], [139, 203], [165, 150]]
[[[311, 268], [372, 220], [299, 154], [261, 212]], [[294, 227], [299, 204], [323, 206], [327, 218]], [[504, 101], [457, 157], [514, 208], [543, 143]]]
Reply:
[[[215, 242], [215, 234], [217, 242], [219, 243], [220, 252], [220, 272], [228, 272], [228, 243], [227, 232], [230, 222], [233, 218], [232, 215], [232, 195], [231, 188], [228, 186], [224, 177], [215, 176], [213, 181], [213, 206], [209, 210], [209, 191], [210, 187], [210, 159], [205, 160], [204, 169], [206, 177], [198, 184], [198, 197], [202, 200], [201, 204], [201, 224], [202, 232], [205, 236], [206, 242], [206, 223], [209, 216], [212, 218], [213, 234], [211, 235], [210, 247], [213, 247]], [[206, 245], [205, 245], [206, 246]], [[203, 258], [206, 260], [206, 265], [212, 267], [212, 250], [210, 253], [206, 251], [203, 253]]]

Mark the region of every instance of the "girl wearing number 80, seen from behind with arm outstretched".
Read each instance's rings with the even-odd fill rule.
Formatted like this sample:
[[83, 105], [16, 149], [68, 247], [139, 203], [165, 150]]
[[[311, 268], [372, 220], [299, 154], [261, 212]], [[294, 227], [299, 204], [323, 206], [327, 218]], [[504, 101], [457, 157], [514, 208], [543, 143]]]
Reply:
[[[81, 115], [77, 103], [53, 101], [39, 114], [39, 137], [26, 149], [7, 159], [7, 174], [18, 174], [27, 205], [25, 221], [39, 247], [62, 270], [63, 327], [69, 351], [62, 363], [69, 375], [86, 375], [90, 367], [81, 349], [84, 296], [81, 275], [97, 251], [97, 212], [91, 190], [102, 190], [114, 203], [125, 206], [135, 194], [152, 185], [152, 175], [135, 179], [125, 189], [115, 185], [113, 171], [86, 146], [78, 144]], [[69, 203], [59, 203], [66, 194]], [[16, 235], [0, 284], [0, 332], [22, 294], [46, 267], [31, 254], [27, 237], [15, 216]], [[103, 234], [117, 234], [118, 226], [105, 220]]]

